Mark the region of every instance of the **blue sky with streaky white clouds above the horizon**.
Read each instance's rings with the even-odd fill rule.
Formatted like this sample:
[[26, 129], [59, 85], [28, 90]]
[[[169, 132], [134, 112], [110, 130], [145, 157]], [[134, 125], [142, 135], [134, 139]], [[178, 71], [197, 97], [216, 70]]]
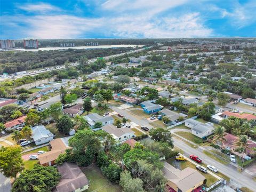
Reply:
[[255, 0], [0, 0], [0, 38], [255, 37], [255, 12]]

